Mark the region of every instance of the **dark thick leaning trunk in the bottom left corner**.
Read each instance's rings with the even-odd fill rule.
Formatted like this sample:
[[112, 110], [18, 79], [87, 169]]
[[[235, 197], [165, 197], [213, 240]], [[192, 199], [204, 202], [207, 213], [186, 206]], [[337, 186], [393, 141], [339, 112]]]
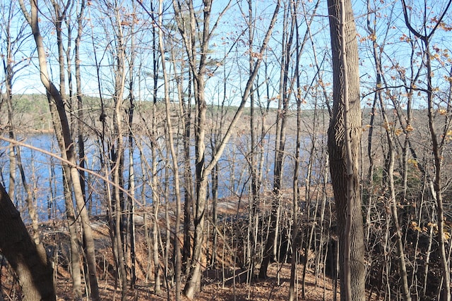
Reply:
[[52, 264], [30, 238], [5, 188], [0, 185], [0, 249], [16, 272], [24, 301], [56, 300]]

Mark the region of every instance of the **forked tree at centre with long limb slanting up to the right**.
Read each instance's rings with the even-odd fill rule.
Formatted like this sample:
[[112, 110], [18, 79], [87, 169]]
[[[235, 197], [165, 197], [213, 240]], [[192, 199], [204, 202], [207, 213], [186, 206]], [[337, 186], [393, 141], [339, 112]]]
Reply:
[[[191, 269], [189, 273], [189, 280], [186, 282], [184, 288], [184, 294], [193, 298], [194, 293], [201, 288], [201, 249], [204, 242], [204, 223], [206, 218], [206, 200], [207, 200], [207, 186], [210, 174], [215, 168], [222, 152], [225, 150], [227, 142], [229, 141], [234, 125], [237, 124], [239, 118], [242, 116], [244, 106], [249, 99], [251, 88], [253, 87], [254, 80], [258, 73], [258, 68], [261, 64], [263, 53], [267, 48], [268, 40], [270, 39], [273, 26], [275, 25], [276, 17], [280, 8], [280, 1], [275, 6], [275, 11], [270, 20], [270, 25], [266, 31], [266, 35], [261, 44], [259, 52], [256, 53], [256, 62], [254, 68], [249, 75], [249, 79], [246, 82], [246, 87], [242, 94], [242, 99], [234, 113], [234, 117], [227, 125], [227, 130], [224, 136], [218, 143], [218, 148], [215, 149], [215, 153], [212, 154], [210, 162], [206, 162], [206, 70], [208, 64], [208, 44], [215, 32], [215, 29], [219, 25], [221, 16], [227, 11], [230, 3], [220, 12], [218, 19], [210, 28], [210, 13], [212, 9], [212, 1], [203, 1], [202, 18], [201, 21], [197, 19], [196, 12], [194, 10], [193, 1], [187, 1], [186, 7], [189, 10], [189, 22], [190, 26], [184, 25], [184, 18], [181, 14], [182, 4], [180, 1], [173, 0], [173, 8], [176, 13], [176, 20], [179, 32], [184, 40], [184, 47], [188, 57], [191, 74], [193, 75], [194, 82], [194, 99], [196, 102], [196, 123], [195, 123], [195, 199], [194, 199], [194, 246], [193, 256], [191, 259]], [[196, 26], [198, 23], [199, 26]], [[201, 25], [200, 25], [201, 24]], [[196, 28], [200, 32], [196, 32]], [[196, 49], [196, 37], [199, 38], [199, 51]]]

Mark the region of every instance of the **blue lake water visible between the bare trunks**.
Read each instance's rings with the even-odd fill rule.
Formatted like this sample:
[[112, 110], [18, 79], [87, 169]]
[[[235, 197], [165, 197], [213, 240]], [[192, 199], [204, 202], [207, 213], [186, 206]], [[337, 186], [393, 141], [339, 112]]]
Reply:
[[[24, 138], [20, 138], [22, 140]], [[24, 143], [38, 147], [47, 152], [52, 152], [52, 154], [57, 154], [59, 156], [60, 151], [57, 145], [57, 141], [54, 135], [42, 134], [42, 135], [30, 135], [23, 140]], [[138, 203], [149, 204], [153, 202], [153, 192], [151, 189], [151, 176], [150, 166], [152, 166], [152, 155], [150, 150], [150, 140], [148, 137], [139, 137], [139, 139], [134, 142], [135, 145], [141, 145], [140, 148], [134, 147], [133, 149], [133, 167], [135, 173], [135, 196]], [[157, 176], [159, 178], [159, 187], [155, 188], [157, 193], [160, 194], [160, 199], [165, 199], [165, 186], [168, 185], [169, 192], [169, 202], [174, 201], [174, 194], [172, 192], [173, 187], [173, 177], [170, 169], [172, 164], [168, 161], [165, 140], [162, 138], [157, 140], [160, 147], [160, 151], [157, 153]], [[302, 142], [302, 149], [305, 149], [304, 153], [310, 147], [310, 140], [307, 138]], [[124, 152], [124, 188], [129, 188], [129, 148], [127, 140], [124, 139], [124, 145], [126, 146]], [[267, 136], [266, 140], [261, 143], [263, 147], [263, 152], [266, 154], [264, 158], [263, 166], [263, 185], [262, 190], [269, 190], [273, 183], [273, 164], [274, 164], [274, 140], [272, 137]], [[1, 180], [6, 189], [9, 186], [9, 161], [8, 161], [8, 143], [0, 142], [0, 166], [1, 166]], [[206, 164], [210, 160], [210, 145], [206, 145]], [[93, 139], [88, 139], [85, 141], [86, 149], [86, 165], [88, 169], [105, 176], [100, 170], [100, 145], [97, 141]], [[140, 152], [140, 149], [142, 153]], [[295, 149], [294, 139], [288, 139], [286, 143], [286, 152], [293, 153]], [[20, 147], [22, 154], [23, 167], [25, 170], [25, 177], [27, 178], [28, 185], [33, 191], [34, 202], [37, 206], [40, 220], [44, 221], [47, 219], [60, 219], [64, 217], [65, 205], [64, 205], [64, 195], [62, 186], [62, 176], [61, 176], [61, 163], [57, 158], [44, 154], [35, 149], [30, 149], [28, 147]], [[179, 175], [182, 176], [183, 172], [183, 150], [178, 149], [179, 156]], [[241, 135], [234, 137], [228, 143], [225, 152], [222, 154], [219, 166], [219, 188], [218, 197], [230, 197], [230, 196], [245, 196], [249, 192], [250, 185], [250, 172], [249, 166], [246, 162], [245, 156], [249, 153], [249, 137], [246, 135]], [[142, 154], [142, 155], [141, 155]], [[191, 156], [194, 157], [195, 149], [191, 147]], [[302, 161], [302, 166], [306, 166], [307, 158], [302, 156], [304, 161]], [[141, 168], [144, 166], [144, 173]], [[284, 166], [284, 176], [283, 183], [285, 187], [289, 188], [292, 185], [294, 160], [291, 156], [287, 156], [285, 159]], [[167, 173], [167, 171], [170, 171]], [[192, 172], [194, 172], [194, 161], [192, 161]], [[300, 168], [300, 177], [304, 177], [305, 170]], [[110, 177], [111, 178], [111, 177]], [[167, 179], [167, 180], [165, 180]], [[88, 208], [92, 214], [102, 214], [105, 211], [105, 202], [107, 202], [107, 197], [105, 197], [107, 190], [105, 188], [105, 182], [100, 178], [89, 175], [88, 183], [90, 185], [90, 190], [88, 191]], [[182, 182], [182, 185], [183, 182]], [[184, 188], [182, 188], [183, 190]], [[209, 184], [209, 189], [211, 189], [211, 181]], [[143, 191], [142, 191], [143, 190]], [[142, 192], [144, 192], [144, 199], [141, 197]], [[211, 196], [211, 192], [209, 192]], [[26, 193], [23, 190], [23, 185], [20, 180], [20, 174], [16, 172], [16, 185], [15, 185], [15, 197], [13, 202], [21, 210], [23, 219], [26, 221], [28, 219], [28, 212], [25, 209]], [[137, 204], [139, 207], [139, 204]]]

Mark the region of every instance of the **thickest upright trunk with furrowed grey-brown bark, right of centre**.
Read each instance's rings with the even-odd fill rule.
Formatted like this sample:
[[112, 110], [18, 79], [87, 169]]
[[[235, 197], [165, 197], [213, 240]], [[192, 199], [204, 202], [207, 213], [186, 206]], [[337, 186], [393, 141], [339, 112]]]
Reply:
[[358, 49], [350, 0], [328, 0], [333, 56], [333, 117], [328, 152], [340, 252], [341, 300], [364, 300], [364, 233], [359, 190], [361, 107]]

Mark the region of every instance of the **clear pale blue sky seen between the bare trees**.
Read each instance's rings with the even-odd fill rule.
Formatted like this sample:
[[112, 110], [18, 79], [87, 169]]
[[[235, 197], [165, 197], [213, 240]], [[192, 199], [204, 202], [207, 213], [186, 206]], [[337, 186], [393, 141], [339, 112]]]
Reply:
[[[371, 14], [371, 23], [376, 23], [376, 42], [379, 45], [384, 45], [384, 53], [382, 55], [383, 65], [386, 67], [385, 72], [388, 74], [388, 78], [391, 76], [398, 76], [396, 73], [397, 68], [393, 68], [395, 62], [398, 62], [400, 66], [408, 67], [410, 65], [410, 49], [414, 47], [422, 46], [419, 41], [414, 41], [412, 35], [405, 26], [405, 21], [403, 19], [402, 13], [402, 3], [400, 1], [379, 1], [370, 0], [370, 8], [374, 13]], [[0, 0], [1, 6], [6, 6], [11, 4], [10, 1]], [[199, 2], [199, 1], [198, 1]], [[286, 3], [287, 1], [283, 1]], [[40, 27], [42, 30], [42, 35], [44, 37], [44, 43], [47, 46], [47, 52], [49, 53], [49, 72], [52, 76], [54, 82], [58, 82], [58, 64], [57, 64], [57, 47], [56, 47], [56, 35], [54, 28], [50, 21], [52, 20], [52, 13], [49, 7], [46, 6], [47, 1], [40, 1]], [[99, 87], [97, 85], [97, 75], [95, 68], [95, 55], [97, 56], [97, 63], [100, 66], [100, 78], [101, 78], [101, 90], [105, 96], [109, 96], [113, 93], [113, 80], [112, 80], [112, 68], [110, 66], [114, 63], [112, 59], [112, 47], [114, 46], [114, 37], [111, 22], [109, 18], [111, 13], [107, 11], [105, 5], [100, 1], [90, 1], [90, 6], [88, 6], [85, 12], [85, 23], [84, 23], [84, 33], [82, 37], [82, 47], [81, 47], [81, 65], [82, 65], [82, 90], [84, 94], [96, 96], [98, 95]], [[121, 13], [124, 15], [124, 20], [126, 16], [131, 16], [133, 2], [126, 0], [121, 2], [123, 9]], [[307, 17], [311, 15], [314, 2], [312, 0], [304, 1], [303, 4], [307, 6], [309, 13]], [[13, 1], [12, 5], [16, 5], [17, 1]], [[422, 20], [423, 11], [425, 8], [427, 11], [427, 23], [432, 22], [435, 16], [439, 18], [439, 12], [444, 10], [446, 1], [428, 1], [426, 6], [421, 5], [421, 1], [407, 1], [407, 5], [410, 6], [410, 18], [413, 27], [422, 30]], [[359, 57], [360, 57], [360, 73], [362, 79], [362, 92], [366, 93], [374, 89], [375, 83], [375, 68], [373, 59], [371, 57], [371, 39], [369, 39], [369, 32], [366, 31], [367, 28], [367, 1], [364, 0], [353, 0], [352, 6], [355, 13], [355, 22], [357, 24], [357, 32], [359, 40]], [[171, 11], [171, 2], [166, 1], [165, 7], [165, 23], [173, 24]], [[225, 7], [225, 1], [214, 1], [213, 4], [213, 20], [218, 18], [218, 15]], [[242, 7], [242, 9], [240, 8]], [[256, 16], [256, 46], [254, 49], [258, 51], [258, 47], [261, 42], [261, 37], [266, 31], [270, 16], [273, 13], [275, 7], [275, 0], [258, 0], [254, 2], [254, 13]], [[73, 8], [73, 15], [76, 13], [76, 6]], [[148, 7], [150, 11], [150, 7]], [[150, 49], [152, 48], [152, 36], [150, 35], [149, 27], [150, 18], [149, 16], [141, 10], [141, 13], [136, 15], [138, 19], [136, 30], [136, 44], [139, 47], [136, 50], [138, 56], [138, 64], [140, 68], [140, 78], [141, 82], [136, 90], [141, 91], [141, 97], [143, 99], [148, 99], [150, 94], [150, 84], [152, 78], [150, 78], [149, 73], [152, 70], [152, 57], [150, 56]], [[6, 10], [3, 10], [6, 13]], [[222, 84], [224, 81], [223, 73], [228, 74], [228, 97], [230, 99], [238, 99], [240, 97], [241, 89], [246, 81], [246, 73], [248, 67], [248, 45], [247, 45], [247, 32], [240, 36], [246, 24], [244, 23], [244, 18], [247, 14], [247, 4], [245, 1], [231, 1], [231, 8], [222, 16], [220, 24], [215, 31], [215, 35], [210, 42], [210, 51], [212, 54], [210, 59], [220, 59], [224, 56], [225, 52], [230, 49], [230, 45], [238, 39], [237, 48], [234, 49], [230, 54], [228, 54], [227, 60], [221, 62], [221, 66], [218, 67], [214, 76], [208, 79], [207, 92], [210, 93], [210, 98], [215, 99], [218, 94], [221, 94]], [[451, 13], [448, 13], [445, 18], [446, 24], [451, 24]], [[268, 64], [268, 73], [274, 78], [279, 77], [280, 66], [278, 65], [278, 59], [280, 59], [280, 41], [282, 40], [283, 23], [280, 19], [273, 31], [272, 39], [269, 44], [268, 56], [270, 57], [270, 63]], [[3, 16], [4, 22], [2, 26], [1, 39], [4, 40], [5, 37], [5, 24], [6, 16]], [[306, 23], [304, 22], [304, 15], [299, 14], [299, 25], [300, 25], [300, 35], [303, 36], [304, 32], [307, 30]], [[13, 36], [16, 37], [19, 34], [29, 35], [30, 29], [28, 26], [23, 27], [23, 16], [19, 10], [16, 10], [13, 16], [13, 21], [11, 22], [11, 32]], [[75, 20], [72, 20], [71, 27], [73, 28], [72, 35], [76, 35]], [[211, 23], [211, 26], [213, 23]], [[126, 27], [125, 27], [126, 28]], [[126, 29], [127, 30], [127, 29]], [[165, 28], [167, 30], [167, 28]], [[428, 30], [428, 28], [427, 28]], [[314, 50], [316, 49], [316, 55], [318, 61], [324, 61], [322, 67], [323, 81], [331, 81], [331, 50], [329, 49], [329, 32], [328, 32], [328, 18], [326, 10], [326, 1], [321, 1], [319, 9], [314, 16], [314, 23], [311, 26], [311, 33], [314, 38], [314, 46], [310, 43], [302, 55], [302, 62], [299, 68], [301, 77], [304, 80], [304, 84], [309, 84], [312, 81], [314, 75], [316, 75], [316, 70], [313, 66], [314, 64]], [[174, 34], [173, 34], [174, 35]], [[67, 37], [66, 30], [64, 31], [64, 36]], [[240, 36], [240, 37], [239, 37]], [[410, 41], [409, 41], [410, 40]], [[169, 41], [169, 40], [168, 40]], [[451, 45], [451, 31], [448, 30], [438, 30], [434, 35], [432, 41], [432, 49], [439, 49], [436, 51], [438, 58], [434, 60], [435, 70], [437, 71], [437, 76], [435, 80], [438, 82], [439, 87], [444, 87], [446, 89], [448, 82], [444, 81], [443, 78], [450, 73], [451, 62], [444, 57], [444, 51], [452, 50]], [[65, 41], [67, 42], [67, 41]], [[72, 44], [73, 47], [73, 44]], [[179, 46], [180, 47], [180, 46]], [[72, 48], [73, 49], [73, 48]], [[180, 51], [183, 51], [182, 49]], [[419, 51], [420, 52], [420, 51]], [[1, 54], [5, 53], [5, 43], [1, 43]], [[27, 60], [32, 56], [31, 60]], [[34, 41], [32, 37], [25, 39], [25, 42], [20, 45], [20, 51], [16, 54], [16, 61], [25, 59], [24, 62], [29, 63], [29, 66], [18, 71], [16, 75], [16, 80], [13, 85], [13, 93], [43, 93], [44, 89], [40, 84], [39, 72], [37, 68]], [[71, 56], [73, 56], [73, 51], [71, 51]], [[279, 57], [278, 57], [279, 56]], [[167, 58], [169, 59], [169, 58]], [[419, 56], [415, 63], [422, 62], [422, 57]], [[25, 66], [24, 64], [24, 66]], [[415, 68], [416, 69], [416, 68]], [[407, 69], [407, 74], [410, 70]], [[3, 75], [3, 74], [2, 74]], [[217, 76], [218, 75], [218, 76]], [[263, 66], [261, 67], [261, 80], [263, 82]], [[396, 76], [396, 77], [397, 77]], [[408, 74], [408, 77], [411, 76]], [[394, 81], [396, 83], [397, 80]], [[137, 84], [138, 85], [138, 84]], [[278, 94], [278, 81], [273, 80], [270, 82], [271, 94], [273, 97]], [[420, 82], [422, 85], [422, 82]], [[328, 86], [328, 89], [331, 87]], [[3, 89], [3, 85], [2, 85]], [[270, 95], [270, 96], [272, 96]], [[365, 99], [364, 99], [365, 103]]]

